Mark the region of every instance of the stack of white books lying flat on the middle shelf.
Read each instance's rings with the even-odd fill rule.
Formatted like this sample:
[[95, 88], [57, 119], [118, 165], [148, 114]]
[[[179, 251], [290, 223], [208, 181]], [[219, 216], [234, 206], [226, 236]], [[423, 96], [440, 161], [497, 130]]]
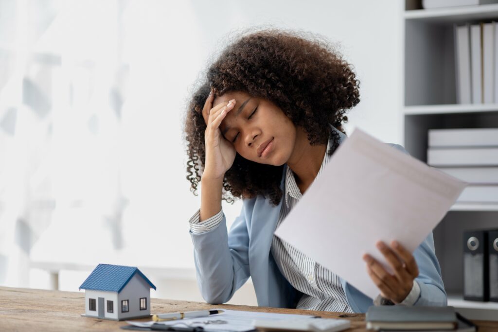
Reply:
[[457, 203], [498, 203], [498, 128], [429, 129], [427, 164], [467, 182]]

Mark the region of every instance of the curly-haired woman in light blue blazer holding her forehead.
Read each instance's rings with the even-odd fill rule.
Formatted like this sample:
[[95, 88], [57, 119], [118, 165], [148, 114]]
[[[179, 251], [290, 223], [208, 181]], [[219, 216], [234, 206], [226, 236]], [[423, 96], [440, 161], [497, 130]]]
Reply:
[[[360, 101], [359, 84], [326, 42], [281, 30], [240, 37], [209, 67], [185, 123], [194, 194], [202, 183], [201, 208], [189, 224], [208, 303], [229, 301], [250, 276], [259, 306], [366, 312], [373, 302], [446, 305], [432, 233], [413, 254], [377, 243], [393, 274], [365, 255], [375, 301], [273, 235], [347, 137], [342, 123]], [[243, 208], [228, 233], [221, 201], [235, 198]]]

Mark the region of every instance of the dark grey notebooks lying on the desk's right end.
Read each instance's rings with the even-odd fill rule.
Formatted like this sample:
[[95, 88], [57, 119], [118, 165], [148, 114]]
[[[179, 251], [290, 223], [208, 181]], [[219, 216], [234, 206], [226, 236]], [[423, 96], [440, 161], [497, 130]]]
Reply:
[[455, 330], [453, 307], [372, 306], [367, 311], [369, 330]]

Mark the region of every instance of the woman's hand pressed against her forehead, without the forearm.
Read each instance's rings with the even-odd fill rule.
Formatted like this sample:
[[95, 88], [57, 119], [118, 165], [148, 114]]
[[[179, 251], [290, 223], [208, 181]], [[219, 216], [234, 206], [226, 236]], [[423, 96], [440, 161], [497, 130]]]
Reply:
[[232, 167], [235, 160], [236, 150], [231, 142], [223, 137], [220, 124], [233, 110], [235, 99], [223, 102], [213, 107], [214, 92], [211, 89], [209, 97], [204, 103], [202, 116], [206, 121], [206, 131], [204, 140], [206, 145], [206, 162], [204, 166], [203, 178], [223, 179], [225, 173]]

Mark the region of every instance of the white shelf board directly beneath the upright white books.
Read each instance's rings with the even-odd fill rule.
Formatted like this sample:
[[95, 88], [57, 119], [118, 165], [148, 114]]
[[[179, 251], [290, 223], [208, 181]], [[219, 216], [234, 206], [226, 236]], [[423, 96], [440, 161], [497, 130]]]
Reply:
[[445, 114], [445, 113], [475, 113], [498, 111], [498, 104], [450, 104], [405, 106], [405, 115]]

